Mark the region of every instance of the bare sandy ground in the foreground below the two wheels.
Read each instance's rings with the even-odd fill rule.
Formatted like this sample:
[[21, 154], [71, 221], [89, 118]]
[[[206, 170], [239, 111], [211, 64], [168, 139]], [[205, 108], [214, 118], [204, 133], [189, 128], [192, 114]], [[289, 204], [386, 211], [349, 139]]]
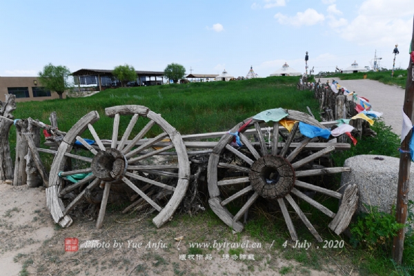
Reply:
[[[205, 237], [213, 242], [215, 237], [228, 237], [239, 241], [249, 237], [233, 235], [223, 225], [206, 226], [202, 223], [177, 219], [162, 228], [155, 228], [148, 217], [106, 215], [103, 228], [95, 229], [96, 220], [76, 217], [70, 228], [60, 228], [52, 221], [46, 208], [44, 188], [13, 187], [0, 184], [0, 276], [14, 275], [280, 275], [282, 268], [287, 275], [346, 275], [352, 267], [338, 266], [338, 259], [324, 262], [319, 270], [313, 270], [293, 259], [280, 256], [278, 249], [263, 244], [262, 249], [249, 248], [243, 254], [253, 254], [255, 260], [234, 261], [228, 249], [209, 249], [213, 260], [180, 260], [189, 254], [188, 242]], [[117, 213], [116, 213], [117, 214]], [[174, 237], [184, 236], [180, 245]], [[108, 243], [108, 248], [80, 248], [77, 252], [65, 252], [64, 239], [77, 237], [79, 244], [88, 240]], [[227, 238], [226, 238], [227, 239]], [[162, 241], [166, 248], [145, 248], [148, 242]], [[123, 242], [119, 250], [115, 241]], [[130, 241], [130, 248], [128, 248]], [[132, 243], [143, 243], [132, 248]], [[315, 242], [315, 241], [312, 241]], [[179, 248], [179, 249], [178, 249]], [[283, 250], [283, 248], [282, 248]], [[223, 255], [230, 253], [230, 259]], [[197, 254], [197, 253], [195, 253]], [[329, 257], [324, 257], [329, 258]], [[342, 270], [342, 271], [341, 271]], [[357, 275], [355, 269], [352, 275]]]

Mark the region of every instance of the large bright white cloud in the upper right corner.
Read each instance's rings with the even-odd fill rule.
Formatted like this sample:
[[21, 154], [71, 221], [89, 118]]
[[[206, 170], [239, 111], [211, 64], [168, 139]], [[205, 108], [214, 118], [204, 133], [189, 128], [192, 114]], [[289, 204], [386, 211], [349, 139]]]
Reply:
[[[359, 45], [391, 45], [411, 41], [414, 1], [366, 0], [360, 6], [357, 17], [350, 23], [331, 21], [330, 26], [340, 37]], [[342, 20], [342, 22], [341, 22]]]

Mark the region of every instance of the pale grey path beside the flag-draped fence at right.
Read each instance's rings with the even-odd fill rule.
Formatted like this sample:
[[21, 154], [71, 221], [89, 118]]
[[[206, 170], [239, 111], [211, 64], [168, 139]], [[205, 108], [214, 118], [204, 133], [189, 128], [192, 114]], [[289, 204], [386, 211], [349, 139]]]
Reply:
[[[332, 83], [332, 78], [321, 78], [322, 82], [328, 80]], [[340, 86], [346, 87], [349, 91], [357, 92], [357, 95], [360, 97], [366, 97], [372, 103], [373, 110], [384, 112], [382, 117], [384, 118], [385, 124], [391, 126], [395, 134], [401, 135], [404, 89], [399, 86], [390, 86], [371, 79], [336, 80]]]

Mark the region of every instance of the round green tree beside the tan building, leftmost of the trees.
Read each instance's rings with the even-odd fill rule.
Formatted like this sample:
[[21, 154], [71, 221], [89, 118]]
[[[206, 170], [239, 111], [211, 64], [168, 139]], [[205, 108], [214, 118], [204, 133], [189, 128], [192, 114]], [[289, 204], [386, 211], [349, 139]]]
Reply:
[[63, 92], [72, 89], [72, 83], [68, 81], [70, 70], [66, 66], [54, 66], [49, 63], [38, 75], [41, 85], [46, 90], [57, 92], [59, 99], [63, 99]]

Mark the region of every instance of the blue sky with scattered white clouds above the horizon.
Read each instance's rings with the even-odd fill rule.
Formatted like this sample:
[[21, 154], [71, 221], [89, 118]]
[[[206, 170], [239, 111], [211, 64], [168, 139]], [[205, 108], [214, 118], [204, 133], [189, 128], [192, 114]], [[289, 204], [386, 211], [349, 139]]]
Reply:
[[0, 0], [0, 77], [34, 77], [48, 63], [112, 70], [268, 77], [283, 66], [304, 73], [408, 67], [413, 0]]

